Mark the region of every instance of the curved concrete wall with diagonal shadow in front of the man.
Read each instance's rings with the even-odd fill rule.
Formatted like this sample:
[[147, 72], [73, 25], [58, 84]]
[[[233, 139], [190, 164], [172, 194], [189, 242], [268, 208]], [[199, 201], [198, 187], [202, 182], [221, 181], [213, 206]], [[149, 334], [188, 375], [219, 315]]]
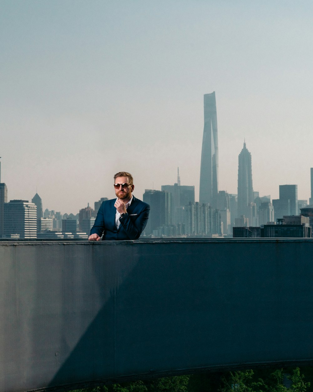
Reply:
[[310, 239], [0, 242], [0, 392], [310, 363], [312, 251]]

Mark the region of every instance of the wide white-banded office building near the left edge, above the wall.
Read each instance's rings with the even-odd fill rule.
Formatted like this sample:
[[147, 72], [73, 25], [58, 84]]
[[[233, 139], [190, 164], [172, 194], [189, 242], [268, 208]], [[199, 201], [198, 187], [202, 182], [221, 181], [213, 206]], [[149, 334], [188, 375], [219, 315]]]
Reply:
[[10, 200], [4, 204], [4, 236], [37, 237], [37, 207], [28, 200]]

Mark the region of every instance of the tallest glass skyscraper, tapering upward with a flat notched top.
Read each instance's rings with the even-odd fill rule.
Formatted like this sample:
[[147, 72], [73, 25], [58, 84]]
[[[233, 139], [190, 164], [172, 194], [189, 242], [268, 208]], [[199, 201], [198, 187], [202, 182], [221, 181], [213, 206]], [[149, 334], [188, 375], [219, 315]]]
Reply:
[[199, 203], [216, 208], [218, 197], [218, 121], [215, 91], [204, 94], [204, 128], [202, 138]]

